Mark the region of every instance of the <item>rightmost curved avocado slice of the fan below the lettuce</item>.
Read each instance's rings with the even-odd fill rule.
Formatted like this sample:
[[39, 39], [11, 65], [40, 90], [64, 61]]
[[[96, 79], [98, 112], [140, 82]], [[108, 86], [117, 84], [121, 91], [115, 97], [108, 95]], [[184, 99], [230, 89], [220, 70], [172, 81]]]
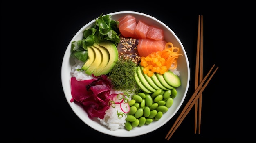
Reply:
[[103, 41], [103, 42], [98, 43], [98, 45], [106, 48], [109, 53], [109, 59], [103, 58], [103, 60], [108, 61], [108, 64], [105, 67], [101, 68], [101, 70], [99, 70], [99, 74], [108, 74], [110, 72], [110, 70], [114, 67], [114, 65], [116, 64], [116, 61], [118, 60], [117, 47], [114, 43], [112, 43], [110, 41]]

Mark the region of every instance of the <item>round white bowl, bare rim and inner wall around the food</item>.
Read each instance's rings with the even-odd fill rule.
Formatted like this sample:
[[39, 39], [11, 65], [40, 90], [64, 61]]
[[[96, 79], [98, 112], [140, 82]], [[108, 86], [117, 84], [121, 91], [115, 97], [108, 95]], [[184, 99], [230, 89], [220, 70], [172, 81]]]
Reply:
[[177, 88], [177, 96], [174, 98], [173, 105], [168, 109], [166, 113], [163, 114], [162, 118], [159, 121], [153, 121], [148, 125], [145, 124], [144, 126], [141, 126], [141, 127], [132, 128], [132, 130], [130, 131], [126, 130], [125, 128], [110, 130], [107, 126], [104, 126], [103, 124], [101, 124], [99, 120], [89, 119], [87, 113], [84, 111], [84, 109], [81, 106], [79, 106], [74, 102], [70, 102], [70, 99], [72, 98], [71, 86], [70, 86], [70, 78], [72, 77], [71, 67], [72, 65], [74, 65], [74, 59], [70, 58], [71, 42], [81, 40], [83, 37], [83, 31], [85, 29], [90, 28], [94, 24], [95, 20], [92, 20], [91, 22], [83, 26], [83, 28], [81, 28], [76, 33], [76, 35], [71, 39], [69, 45], [67, 46], [67, 50], [65, 51], [65, 54], [63, 57], [63, 63], [61, 67], [61, 80], [62, 80], [63, 91], [65, 93], [65, 98], [67, 99], [67, 102], [72, 108], [72, 110], [74, 111], [74, 113], [85, 124], [87, 124], [91, 128], [99, 132], [102, 132], [104, 134], [108, 134], [116, 137], [140, 136], [140, 135], [152, 132], [154, 130], [157, 130], [158, 128], [166, 124], [170, 119], [172, 119], [172, 117], [175, 115], [175, 113], [177, 113], [180, 106], [182, 105], [189, 88], [189, 80], [190, 80], [189, 61], [188, 61], [185, 49], [181, 41], [179, 40], [179, 38], [175, 35], [175, 33], [163, 22], [157, 20], [155, 17], [146, 15], [144, 13], [139, 13], [134, 11], [120, 11], [115, 13], [109, 13], [107, 15], [112, 15], [112, 20], [118, 20], [120, 17], [128, 14], [135, 16], [137, 20], [142, 20], [149, 25], [157, 25], [160, 28], [162, 28], [164, 30], [164, 39], [167, 42], [172, 42], [175, 47], [179, 47], [181, 50], [180, 53], [183, 55], [183, 56], [179, 56], [177, 60], [178, 61], [177, 69], [178, 71], [180, 71], [180, 79], [182, 84], [180, 87]]

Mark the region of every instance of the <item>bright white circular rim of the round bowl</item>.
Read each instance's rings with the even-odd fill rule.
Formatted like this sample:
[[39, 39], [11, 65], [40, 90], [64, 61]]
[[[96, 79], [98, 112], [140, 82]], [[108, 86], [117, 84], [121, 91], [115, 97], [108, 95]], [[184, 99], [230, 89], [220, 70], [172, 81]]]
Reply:
[[[65, 69], [67, 69], [67, 65], [65, 65], [67, 62], [69, 63], [72, 63], [70, 61], [70, 58], [67, 60], [65, 59], [65, 57], [69, 57], [70, 56], [70, 50], [71, 50], [71, 42], [74, 41], [74, 39], [76, 37], [78, 37], [78, 35], [81, 34], [81, 32], [83, 32], [83, 30], [85, 30], [85, 28], [88, 28], [88, 26], [92, 25], [95, 23], [95, 19], [94, 20], [91, 20], [90, 22], [88, 22], [87, 24], [85, 24], [85, 26], [83, 26], [78, 32], [76, 32], [76, 34], [74, 35], [74, 37], [72, 37], [70, 43], [68, 44], [67, 46], [67, 49], [65, 51], [65, 54], [63, 56], [63, 61], [62, 61], [62, 65], [61, 65], [61, 83], [62, 83], [62, 87], [63, 87], [63, 92], [65, 94], [65, 98], [68, 102], [68, 104], [70, 105], [70, 107], [72, 108], [72, 111], [76, 114], [76, 116], [79, 117], [79, 119], [81, 119], [86, 125], [90, 126], [91, 128], [93, 128], [94, 130], [97, 130], [101, 133], [104, 133], [104, 134], [108, 134], [108, 135], [111, 135], [111, 136], [116, 136], [116, 137], [135, 137], [135, 136], [140, 136], [140, 135], [143, 135], [143, 134], [146, 134], [146, 133], [149, 133], [149, 132], [153, 132], [154, 130], [157, 130], [158, 128], [162, 127], [164, 124], [166, 124], [168, 121], [170, 121], [173, 116], [177, 113], [177, 111], [180, 109], [180, 107], [182, 106], [182, 104], [184, 103], [184, 99], [186, 98], [186, 94], [188, 92], [188, 89], [189, 89], [189, 82], [190, 82], [190, 68], [189, 68], [189, 60], [188, 60], [188, 57], [187, 57], [187, 54], [186, 54], [186, 51], [180, 41], [180, 39], [177, 37], [177, 35], [173, 32], [173, 30], [171, 30], [171, 28], [169, 28], [168, 26], [166, 26], [166, 24], [164, 24], [163, 22], [161, 22], [160, 20], [158, 20], [157, 18], [153, 17], [153, 16], [150, 16], [148, 14], [145, 14], [145, 13], [141, 13], [141, 12], [136, 12], [136, 11], [117, 11], [117, 12], [112, 12], [112, 13], [108, 13], [108, 14], [105, 14], [105, 15], [118, 15], [118, 14], [135, 14], [135, 15], [141, 15], [141, 16], [144, 16], [144, 17], [148, 17], [150, 19], [153, 19], [155, 20], [157, 23], [159, 24], [162, 24], [162, 26], [166, 27], [172, 34], [173, 36], [175, 37], [175, 39], [177, 39], [177, 42], [181, 45], [181, 48], [182, 48], [182, 52], [184, 52], [184, 58], [186, 60], [186, 68], [187, 68], [187, 80], [186, 80], [186, 89], [184, 91], [184, 95], [181, 99], [181, 102], [180, 104], [177, 106], [177, 108], [175, 109], [173, 115], [171, 117], [169, 117], [166, 121], [163, 121], [161, 124], [159, 124], [159, 126], [155, 127], [155, 128], [151, 128], [149, 130], [146, 130], [145, 132], [141, 132], [141, 133], [138, 133], [138, 134], [130, 134], [128, 131], [128, 134], [118, 134], [118, 132], [115, 132], [115, 130], [111, 131], [109, 128], [108, 129], [108, 132], [104, 132], [102, 130], [100, 130], [99, 128], [95, 127], [93, 124], [90, 124], [88, 121], [86, 121], [85, 119], [83, 119], [83, 117], [81, 117], [81, 115], [79, 114], [79, 111], [75, 110], [74, 106], [79, 106], [78, 104], [73, 104], [70, 102], [70, 99], [68, 99], [68, 96], [67, 94], [71, 94], [70, 92], [70, 89], [67, 89], [65, 88], [65, 85], [67, 83], [65, 83], [67, 80], [64, 80], [66, 77], [67, 74], [66, 74], [66, 71]], [[104, 15], [103, 15], [104, 16]], [[71, 71], [71, 69], [70, 69]], [[71, 76], [71, 74], [70, 74]], [[97, 124], [100, 124], [100, 123], [97, 123]], [[100, 124], [101, 126], [104, 126], [103, 124]], [[121, 129], [121, 130], [125, 130], [125, 129]], [[134, 130], [134, 129], [132, 129]]]

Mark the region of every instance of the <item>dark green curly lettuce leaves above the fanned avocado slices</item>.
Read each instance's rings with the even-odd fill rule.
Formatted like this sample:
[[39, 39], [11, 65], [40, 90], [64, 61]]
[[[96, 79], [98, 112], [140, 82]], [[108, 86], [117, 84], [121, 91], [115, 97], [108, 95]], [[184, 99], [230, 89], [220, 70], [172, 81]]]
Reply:
[[95, 19], [92, 27], [83, 31], [83, 39], [72, 41], [70, 56], [85, 62], [88, 59], [88, 46], [101, 41], [111, 41], [117, 46], [121, 35], [118, 24], [118, 21], [112, 20], [112, 15], [102, 16], [101, 14], [98, 19]]

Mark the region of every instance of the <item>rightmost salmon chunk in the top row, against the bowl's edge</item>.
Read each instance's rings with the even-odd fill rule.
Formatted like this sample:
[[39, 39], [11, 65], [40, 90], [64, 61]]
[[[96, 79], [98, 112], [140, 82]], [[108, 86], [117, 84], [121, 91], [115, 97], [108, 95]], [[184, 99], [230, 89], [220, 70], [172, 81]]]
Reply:
[[146, 38], [162, 40], [164, 39], [164, 31], [161, 28], [149, 26]]

